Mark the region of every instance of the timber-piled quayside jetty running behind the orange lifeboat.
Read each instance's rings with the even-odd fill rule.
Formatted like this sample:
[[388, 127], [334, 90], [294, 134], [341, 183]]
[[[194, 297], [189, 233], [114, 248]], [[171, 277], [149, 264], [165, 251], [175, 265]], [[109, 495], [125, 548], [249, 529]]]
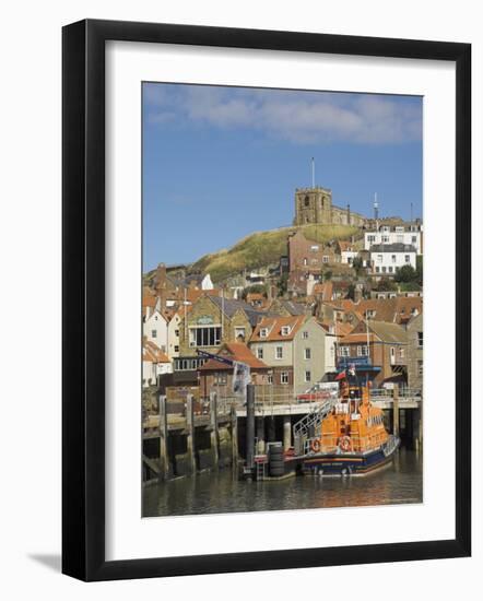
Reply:
[[[390, 435], [403, 446], [422, 447], [423, 398], [419, 389], [370, 388], [369, 401]], [[297, 458], [320, 425], [327, 398], [295, 396], [283, 387], [248, 385], [244, 396], [212, 392], [197, 401], [160, 396], [143, 419], [143, 482], [231, 469], [236, 478], [280, 480], [298, 473]], [[347, 405], [350, 406], [350, 405]], [[305, 424], [301, 431], [301, 424]], [[308, 452], [311, 452], [310, 450]]]

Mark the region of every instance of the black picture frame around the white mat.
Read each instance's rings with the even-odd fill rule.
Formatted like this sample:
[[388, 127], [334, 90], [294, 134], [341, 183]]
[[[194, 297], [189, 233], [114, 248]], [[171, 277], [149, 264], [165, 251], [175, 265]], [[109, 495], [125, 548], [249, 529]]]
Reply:
[[[456, 64], [456, 538], [105, 559], [105, 43], [181, 44]], [[471, 553], [471, 45], [86, 20], [62, 31], [62, 571], [82, 580], [464, 557]], [[464, 377], [462, 377], [464, 374]]]

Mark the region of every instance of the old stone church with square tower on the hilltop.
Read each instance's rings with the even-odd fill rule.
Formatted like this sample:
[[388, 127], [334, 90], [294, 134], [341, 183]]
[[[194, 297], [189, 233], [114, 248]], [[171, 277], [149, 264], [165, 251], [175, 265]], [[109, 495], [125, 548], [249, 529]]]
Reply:
[[332, 190], [321, 188], [297, 188], [295, 190], [294, 225], [355, 225], [363, 227], [367, 220], [360, 213], [332, 204]]

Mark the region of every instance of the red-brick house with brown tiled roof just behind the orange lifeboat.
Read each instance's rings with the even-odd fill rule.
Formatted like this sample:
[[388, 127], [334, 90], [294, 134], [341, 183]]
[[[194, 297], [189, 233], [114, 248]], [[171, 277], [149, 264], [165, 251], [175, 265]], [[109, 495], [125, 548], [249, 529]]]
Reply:
[[[402, 326], [385, 321], [361, 320], [345, 337], [339, 339], [338, 366], [369, 360], [379, 368], [375, 385], [408, 382], [408, 332]], [[354, 362], [354, 363], [355, 363]]]

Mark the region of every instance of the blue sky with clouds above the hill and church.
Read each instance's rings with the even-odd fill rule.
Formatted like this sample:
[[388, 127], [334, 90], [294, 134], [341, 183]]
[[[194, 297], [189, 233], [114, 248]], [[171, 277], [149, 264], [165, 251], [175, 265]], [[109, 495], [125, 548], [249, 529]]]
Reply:
[[143, 84], [143, 269], [291, 225], [294, 190], [422, 215], [422, 98]]

